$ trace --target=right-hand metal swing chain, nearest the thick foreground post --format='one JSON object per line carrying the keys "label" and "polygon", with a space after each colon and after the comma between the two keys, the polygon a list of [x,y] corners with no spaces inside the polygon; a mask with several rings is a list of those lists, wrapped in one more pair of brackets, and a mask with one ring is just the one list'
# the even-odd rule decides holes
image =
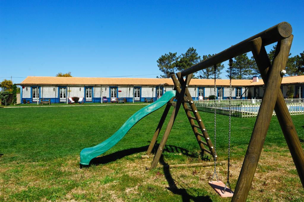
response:
{"label": "right-hand metal swing chain, nearest the thick foreground post", "polygon": [[224,193],[226,191],[227,186],[230,187],[230,192],[232,193],[230,182],[229,182],[229,175],[230,175],[230,136],[231,136],[231,104],[232,104],[232,62],[233,60],[229,60],[229,67],[230,67],[230,95],[229,95],[229,130],[228,130],[228,170],[227,170],[227,182],[224,188]]}

